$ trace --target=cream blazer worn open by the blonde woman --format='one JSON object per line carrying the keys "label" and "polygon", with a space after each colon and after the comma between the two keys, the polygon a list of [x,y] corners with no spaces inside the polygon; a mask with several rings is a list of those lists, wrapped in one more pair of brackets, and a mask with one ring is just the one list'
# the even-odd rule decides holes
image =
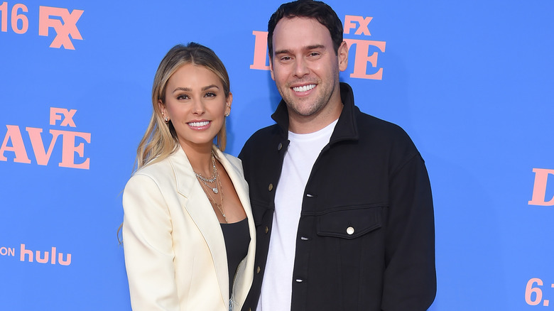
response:
{"label": "cream blazer worn open by the blonde woman", "polygon": [[[222,230],[183,149],[138,170],[123,194],[123,245],[133,310],[240,310],[254,277],[256,231],[242,165],[213,146],[250,231],[229,301]],[[233,307],[229,307],[233,305]]]}

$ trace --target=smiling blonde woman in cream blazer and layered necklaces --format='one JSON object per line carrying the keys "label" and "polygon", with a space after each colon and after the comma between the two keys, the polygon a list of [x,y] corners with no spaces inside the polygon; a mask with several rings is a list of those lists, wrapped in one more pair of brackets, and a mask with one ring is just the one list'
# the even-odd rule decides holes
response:
{"label": "smiling blonde woman in cream blazer and layered necklaces", "polygon": [[240,310],[246,299],[256,243],[240,160],[222,153],[232,99],[209,48],[176,45],[158,67],[123,195],[133,310]]}

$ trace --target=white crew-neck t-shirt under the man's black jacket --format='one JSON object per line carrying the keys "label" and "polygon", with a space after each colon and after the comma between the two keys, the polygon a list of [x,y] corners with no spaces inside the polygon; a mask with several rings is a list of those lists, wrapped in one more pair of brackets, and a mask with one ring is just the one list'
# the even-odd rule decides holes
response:
{"label": "white crew-neck t-shirt under the man's black jacket", "polygon": [[290,310],[296,234],[313,164],[329,143],[337,120],[314,133],[288,132],[290,144],[275,193],[273,229],[257,311]]}

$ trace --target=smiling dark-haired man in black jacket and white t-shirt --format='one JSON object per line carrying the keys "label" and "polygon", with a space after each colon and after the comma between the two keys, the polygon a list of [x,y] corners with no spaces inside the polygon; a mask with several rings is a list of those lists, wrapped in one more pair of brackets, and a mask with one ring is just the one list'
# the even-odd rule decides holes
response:
{"label": "smiling dark-haired man in black jacket and white t-shirt", "polygon": [[363,114],[335,11],[283,4],[268,23],[276,125],[239,158],[257,232],[243,310],[427,310],[435,298],[433,201],[398,126]]}

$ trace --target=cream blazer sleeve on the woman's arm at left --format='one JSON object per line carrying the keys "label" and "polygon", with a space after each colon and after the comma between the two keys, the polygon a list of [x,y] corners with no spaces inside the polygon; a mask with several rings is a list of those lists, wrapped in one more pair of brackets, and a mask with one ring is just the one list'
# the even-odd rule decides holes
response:
{"label": "cream blazer sleeve on the woman's arm at left", "polygon": [[123,194],[123,245],[133,310],[179,310],[171,219],[162,191],[136,174]]}

